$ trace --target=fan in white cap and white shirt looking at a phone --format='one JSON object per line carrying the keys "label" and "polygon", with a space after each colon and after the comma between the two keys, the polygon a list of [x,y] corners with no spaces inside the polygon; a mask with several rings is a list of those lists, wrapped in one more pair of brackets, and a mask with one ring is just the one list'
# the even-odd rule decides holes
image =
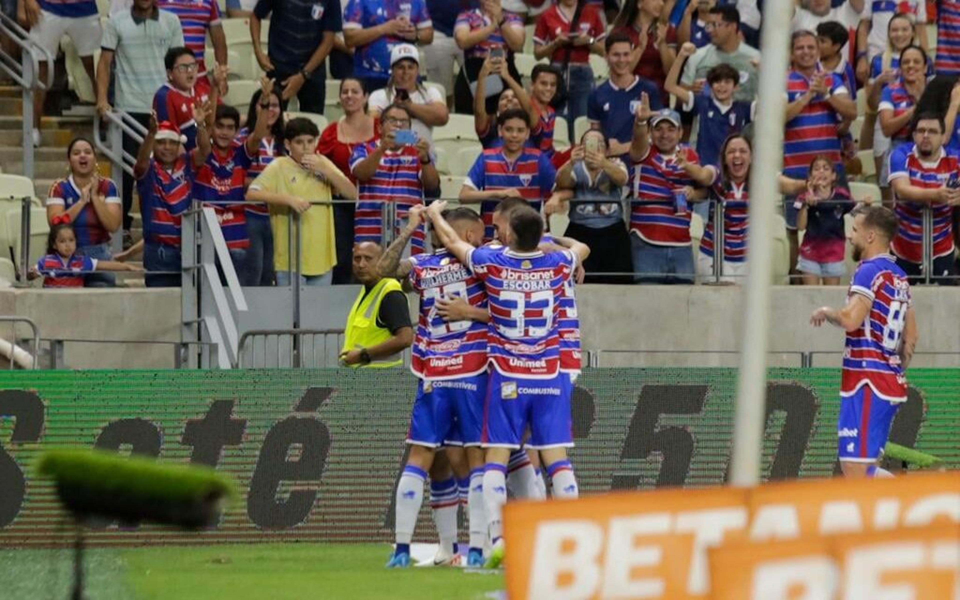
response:
{"label": "fan in white cap and white shirt looking at a phone", "polygon": [[[419,139],[433,143],[433,128],[446,125],[450,110],[436,87],[419,83],[420,52],[413,44],[397,44],[390,51],[390,80],[370,95],[368,107],[374,119],[392,104],[410,112],[412,128]],[[432,146],[431,146],[432,150]]]}

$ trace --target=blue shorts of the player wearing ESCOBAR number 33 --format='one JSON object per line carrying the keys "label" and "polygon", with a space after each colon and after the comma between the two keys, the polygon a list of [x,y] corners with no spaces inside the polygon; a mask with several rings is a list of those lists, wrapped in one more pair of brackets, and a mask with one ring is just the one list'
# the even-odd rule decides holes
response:
{"label": "blue shorts of the player wearing ESCOBAR number 33", "polygon": [[518,448],[530,427],[524,447],[542,450],[573,445],[569,373],[549,379],[526,379],[493,370],[484,405],[485,447]]}

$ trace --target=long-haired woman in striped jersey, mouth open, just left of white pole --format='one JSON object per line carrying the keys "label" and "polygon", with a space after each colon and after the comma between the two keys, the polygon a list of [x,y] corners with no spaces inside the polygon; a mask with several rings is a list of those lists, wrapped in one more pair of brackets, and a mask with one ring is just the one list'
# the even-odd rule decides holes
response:
{"label": "long-haired woman in striped jersey, mouth open, just left of white pole", "polygon": [[[715,276],[713,252],[716,238],[714,223],[716,210],[723,207],[723,264],[720,280],[740,283],[747,273],[747,218],[750,207],[750,168],[753,164],[753,145],[750,139],[734,133],[720,148],[720,171],[710,185],[710,213],[697,256],[697,277],[707,280]],[[780,176],[780,192],[799,194],[804,191],[804,180]]]}

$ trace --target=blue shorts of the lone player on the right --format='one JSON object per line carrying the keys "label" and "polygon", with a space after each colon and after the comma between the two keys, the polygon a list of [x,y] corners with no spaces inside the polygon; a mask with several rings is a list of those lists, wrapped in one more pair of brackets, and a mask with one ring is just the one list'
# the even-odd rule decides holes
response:
{"label": "blue shorts of the lone player on the right", "polygon": [[875,463],[887,444],[890,425],[902,402],[876,396],[869,385],[840,398],[837,457],[848,463]]}

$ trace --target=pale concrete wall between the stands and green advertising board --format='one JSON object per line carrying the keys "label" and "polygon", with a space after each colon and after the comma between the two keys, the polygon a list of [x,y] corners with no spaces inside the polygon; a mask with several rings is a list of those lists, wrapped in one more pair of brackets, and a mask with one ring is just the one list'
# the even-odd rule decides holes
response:
{"label": "pale concrete wall between the stands and green advertising board", "polygon": [[[342,327],[355,294],[355,287],[305,288],[302,326]],[[960,288],[915,288],[913,295],[920,326],[918,352],[953,353],[920,355],[915,365],[960,366]],[[838,366],[843,332],[816,329],[809,325],[809,315],[824,304],[839,306],[845,297],[842,287],[775,287],[770,348],[780,354],[771,356],[771,365],[799,367],[798,352],[816,351],[828,354],[816,355],[815,366]],[[577,289],[577,300],[584,348],[604,350],[601,366],[736,366],[739,287],[585,285]],[[248,301],[251,310],[239,319],[241,332],[291,326],[292,302],[285,290],[255,289]],[[410,306],[415,314],[416,297],[411,296]],[[0,290],[0,314],[34,319],[44,338],[180,339],[180,292],[172,289]],[[0,337],[7,337],[6,331],[0,328]],[[74,369],[163,369],[173,367],[174,350],[67,344],[65,360]]]}

